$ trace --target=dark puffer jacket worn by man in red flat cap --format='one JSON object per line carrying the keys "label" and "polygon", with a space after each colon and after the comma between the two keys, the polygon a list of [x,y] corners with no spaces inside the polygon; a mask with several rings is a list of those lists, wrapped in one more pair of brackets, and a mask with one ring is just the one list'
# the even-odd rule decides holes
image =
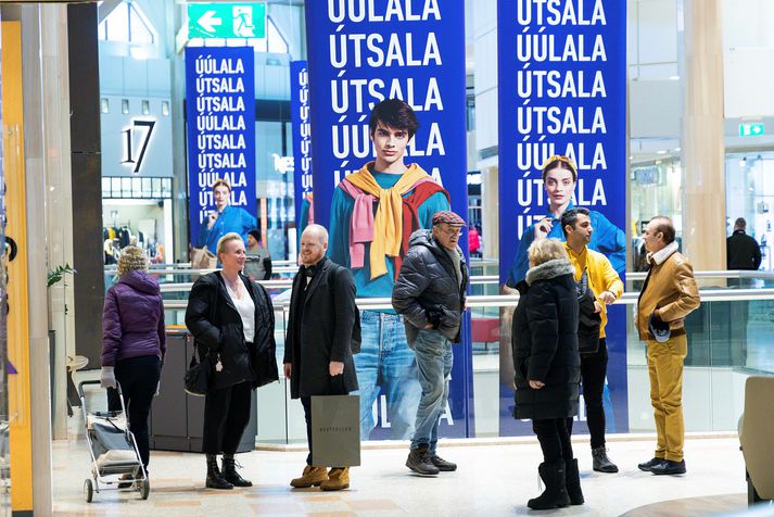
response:
{"label": "dark puffer jacket worn by man in red flat cap", "polygon": [[460,287],[452,257],[435,241],[432,230],[415,231],[408,243],[410,248],[392,290],[392,306],[405,318],[408,345],[414,346],[419,329],[431,323],[432,314],[437,315],[434,328],[458,343],[468,289],[465,256],[457,248],[462,275]]}

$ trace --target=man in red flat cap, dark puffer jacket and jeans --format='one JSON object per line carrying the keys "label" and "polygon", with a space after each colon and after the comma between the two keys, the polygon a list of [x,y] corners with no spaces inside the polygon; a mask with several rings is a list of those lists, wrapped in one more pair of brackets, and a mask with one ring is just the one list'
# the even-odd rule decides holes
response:
{"label": "man in red flat cap, dark puffer jacket and jeans", "polygon": [[459,343],[468,287],[468,267],[457,245],[465,220],[436,212],[430,230],[411,234],[406,258],[392,291],[392,305],[403,315],[408,345],[417,355],[422,395],[406,466],[434,476],[457,465],[437,455],[439,420],[448,400],[448,379]]}

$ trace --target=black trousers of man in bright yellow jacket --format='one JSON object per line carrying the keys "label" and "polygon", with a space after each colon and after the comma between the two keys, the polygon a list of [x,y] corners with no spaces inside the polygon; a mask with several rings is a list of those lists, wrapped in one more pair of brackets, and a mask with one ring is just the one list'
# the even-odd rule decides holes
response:
{"label": "black trousers of man in bright yellow jacket", "polygon": [[[583,400],[586,403],[586,425],[592,438],[592,449],[605,446],[602,391],[607,369],[608,348],[605,338],[601,338],[595,353],[581,355],[581,382],[583,383]],[[567,426],[572,434],[572,418],[568,418]]]}

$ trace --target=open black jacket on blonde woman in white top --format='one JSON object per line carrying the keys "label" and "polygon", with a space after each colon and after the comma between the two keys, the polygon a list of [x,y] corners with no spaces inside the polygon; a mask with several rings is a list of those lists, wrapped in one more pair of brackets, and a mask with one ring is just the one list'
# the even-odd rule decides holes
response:
{"label": "open black jacket on blonde woman in white top", "polygon": [[[244,381],[253,388],[279,379],[271,299],[266,290],[240,275],[255,304],[255,337],[248,346],[242,318],[226,290],[220,272],[200,277],[191,288],[186,310],[186,327],[196,340],[200,357],[208,357],[210,388],[223,389]],[[223,369],[216,371],[220,358]]]}

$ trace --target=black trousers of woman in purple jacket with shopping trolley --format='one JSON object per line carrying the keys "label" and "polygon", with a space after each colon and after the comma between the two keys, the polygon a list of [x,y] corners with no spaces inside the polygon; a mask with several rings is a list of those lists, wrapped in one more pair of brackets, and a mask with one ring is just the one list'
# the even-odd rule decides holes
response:
{"label": "black trousers of woman in purple jacket with shopping trolley", "polygon": [[[135,434],[137,450],[142,465],[148,468],[151,445],[148,432],[148,417],[162,375],[162,362],[155,355],[130,357],[115,364],[115,380],[120,384],[124,405],[129,418],[129,430]],[[107,390],[107,408],[120,411],[118,390]]]}

